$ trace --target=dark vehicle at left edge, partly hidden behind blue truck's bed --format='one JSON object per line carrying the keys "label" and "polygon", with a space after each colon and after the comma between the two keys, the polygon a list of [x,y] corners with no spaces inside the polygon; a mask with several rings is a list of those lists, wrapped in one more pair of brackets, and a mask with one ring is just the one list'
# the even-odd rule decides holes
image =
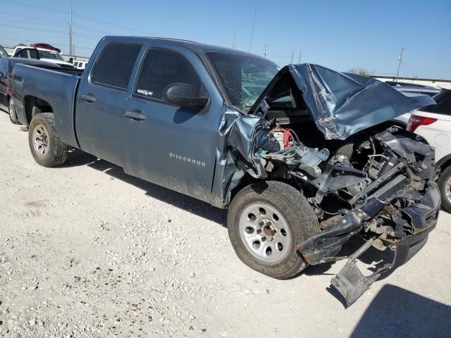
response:
{"label": "dark vehicle at left edge, partly hidden behind blue truck's bed", "polygon": [[14,107],[14,101],[11,99],[11,96],[13,95],[11,90],[11,73],[13,72],[14,65],[18,63],[47,68],[60,68],[59,65],[54,63],[34,60],[31,58],[0,58],[0,107],[8,111],[9,119],[11,120],[11,123],[14,124],[18,124],[18,120],[16,116],[16,108]]}

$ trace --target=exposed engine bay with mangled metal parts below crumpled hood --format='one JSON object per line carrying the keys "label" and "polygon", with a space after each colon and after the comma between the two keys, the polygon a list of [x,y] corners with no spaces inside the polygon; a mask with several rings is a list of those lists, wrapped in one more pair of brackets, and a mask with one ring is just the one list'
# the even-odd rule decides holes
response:
{"label": "exposed engine bay with mangled metal parts below crumpled hood", "polygon": [[[435,177],[434,152],[418,136],[379,125],[331,142],[304,138],[296,126],[290,127],[271,130],[280,150],[261,150],[261,158],[268,177],[290,182],[307,196],[321,229],[336,227],[338,220],[358,211],[359,231],[376,234],[373,246],[378,249],[421,232],[421,224],[410,226],[404,220],[414,217],[409,207],[424,201],[428,180]],[[369,205],[371,211],[364,212]],[[310,263],[319,262],[312,258]]]}

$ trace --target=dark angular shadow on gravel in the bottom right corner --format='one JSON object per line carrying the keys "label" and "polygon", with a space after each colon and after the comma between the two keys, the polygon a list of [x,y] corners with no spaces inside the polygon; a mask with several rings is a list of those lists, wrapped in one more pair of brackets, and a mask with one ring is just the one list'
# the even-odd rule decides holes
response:
{"label": "dark angular shadow on gravel in the bottom right corner", "polygon": [[385,284],[350,337],[451,337],[451,306]]}

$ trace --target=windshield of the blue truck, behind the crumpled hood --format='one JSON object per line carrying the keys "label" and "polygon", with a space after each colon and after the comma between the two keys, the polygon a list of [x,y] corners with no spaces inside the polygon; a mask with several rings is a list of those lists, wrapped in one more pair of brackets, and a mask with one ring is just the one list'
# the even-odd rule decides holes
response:
{"label": "windshield of the blue truck, behind the crumpled hood", "polygon": [[206,53],[233,106],[250,108],[278,72],[276,63],[252,56]]}

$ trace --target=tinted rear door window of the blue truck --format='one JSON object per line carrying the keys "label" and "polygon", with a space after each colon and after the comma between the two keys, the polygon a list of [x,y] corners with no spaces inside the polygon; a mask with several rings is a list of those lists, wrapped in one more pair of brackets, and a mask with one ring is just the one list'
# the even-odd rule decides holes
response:
{"label": "tinted rear door window of the blue truck", "polygon": [[101,51],[92,72],[92,82],[126,90],[140,44],[111,42]]}

